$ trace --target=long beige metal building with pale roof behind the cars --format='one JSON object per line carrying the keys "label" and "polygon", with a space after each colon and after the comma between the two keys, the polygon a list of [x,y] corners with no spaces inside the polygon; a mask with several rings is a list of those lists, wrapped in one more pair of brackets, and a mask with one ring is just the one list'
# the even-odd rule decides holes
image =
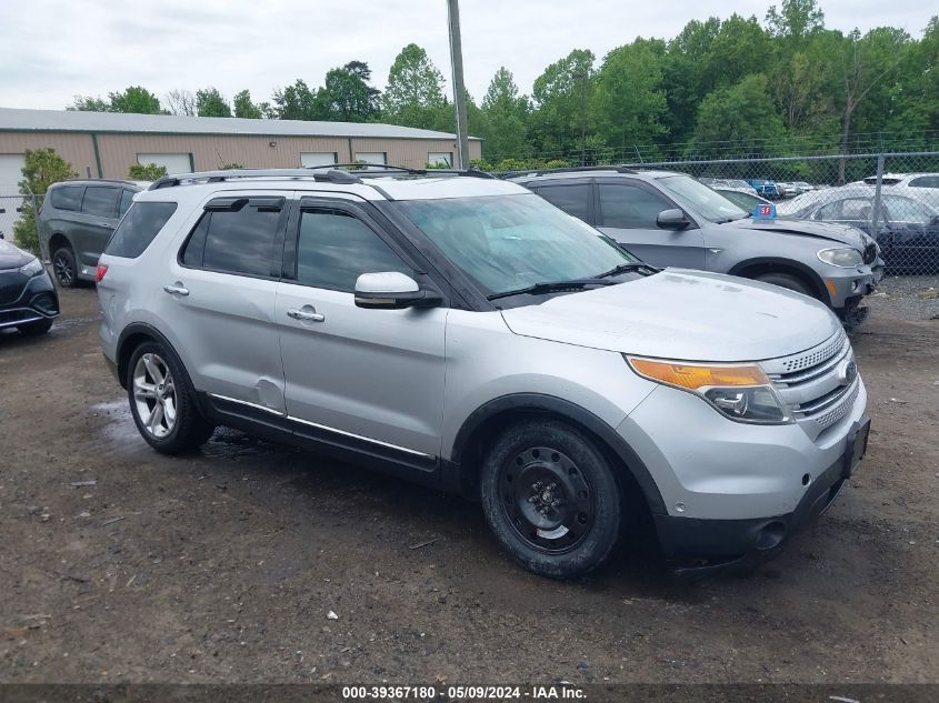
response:
{"label": "long beige metal building with pale roof behind the cars", "polygon": [[[84,178],[127,178],[133,163],[190,173],[239,163],[298,168],[368,161],[453,163],[453,134],[354,122],[246,120],[0,108],[0,187],[21,180],[23,152],[51,147]],[[470,158],[481,141],[470,138]]]}

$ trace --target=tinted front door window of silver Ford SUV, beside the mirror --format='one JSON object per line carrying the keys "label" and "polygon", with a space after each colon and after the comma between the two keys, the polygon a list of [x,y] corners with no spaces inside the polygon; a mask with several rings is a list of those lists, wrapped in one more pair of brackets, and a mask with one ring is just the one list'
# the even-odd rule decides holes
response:
{"label": "tinted front door window of silver Ford SUV, beside the mirror", "polygon": [[338,210],[304,210],[297,245],[297,282],[353,292],[362,273],[399,271],[413,275],[369,227]]}

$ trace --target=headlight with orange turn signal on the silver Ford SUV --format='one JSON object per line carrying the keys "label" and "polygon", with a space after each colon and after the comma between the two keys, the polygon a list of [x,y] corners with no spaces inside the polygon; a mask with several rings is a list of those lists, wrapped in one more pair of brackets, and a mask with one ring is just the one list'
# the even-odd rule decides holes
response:
{"label": "headlight with orange turn signal on the silver Ford SUV", "polygon": [[626,360],[642,378],[695,393],[730,420],[755,424],[793,422],[757,364],[690,364],[637,356]]}

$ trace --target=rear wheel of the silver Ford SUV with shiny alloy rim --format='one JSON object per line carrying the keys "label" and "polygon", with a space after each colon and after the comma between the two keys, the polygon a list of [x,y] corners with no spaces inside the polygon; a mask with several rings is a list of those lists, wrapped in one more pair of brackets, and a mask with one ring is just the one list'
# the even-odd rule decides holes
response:
{"label": "rear wheel of the silver Ford SUV with shiny alloy rim", "polygon": [[212,434],[186,369],[172,350],[158,342],[144,342],[131,354],[127,393],[138,431],[162,454],[196,449]]}

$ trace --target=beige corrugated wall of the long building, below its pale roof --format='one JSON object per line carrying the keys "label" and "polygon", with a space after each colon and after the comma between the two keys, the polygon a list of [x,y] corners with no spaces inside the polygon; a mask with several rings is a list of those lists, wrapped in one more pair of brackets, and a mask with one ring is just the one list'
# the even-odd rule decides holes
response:
{"label": "beige corrugated wall of the long building, below its pale roof", "polygon": [[[388,163],[423,168],[429,152],[452,152],[450,140],[363,139],[334,137],[261,137],[256,134],[116,134],[98,132],[103,178],[127,178],[138,153],[191,153],[197,171],[224,163],[246,168],[300,167],[301,152],[332,152],[340,162],[353,161],[356,152],[384,152]],[[0,153],[52,147],[81,177],[99,175],[92,135],[70,132],[0,132]],[[480,158],[481,142],[470,142],[470,157]]]}

